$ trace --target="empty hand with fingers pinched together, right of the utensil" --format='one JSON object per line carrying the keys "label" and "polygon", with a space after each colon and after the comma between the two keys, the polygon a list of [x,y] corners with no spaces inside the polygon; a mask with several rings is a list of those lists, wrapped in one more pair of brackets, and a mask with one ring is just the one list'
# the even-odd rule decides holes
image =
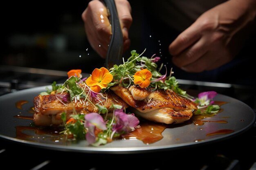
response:
{"label": "empty hand with fingers pinched together, right of the utensil", "polygon": [[206,11],[170,44],[173,63],[184,71],[202,72],[230,62],[255,15],[256,0],[229,0]]}

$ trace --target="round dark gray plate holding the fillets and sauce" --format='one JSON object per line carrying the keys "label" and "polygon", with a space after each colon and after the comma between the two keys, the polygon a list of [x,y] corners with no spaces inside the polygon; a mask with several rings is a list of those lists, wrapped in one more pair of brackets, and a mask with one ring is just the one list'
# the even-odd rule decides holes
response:
{"label": "round dark gray plate holding the fillets and sauce", "polygon": [[[140,140],[117,140],[104,146],[94,147],[89,146],[86,141],[67,141],[55,132],[42,135],[33,129],[20,130],[20,128],[26,129],[24,127],[29,127],[32,120],[20,119],[15,116],[32,116],[32,113],[29,113],[28,110],[31,110],[33,106],[33,99],[40,92],[45,91],[45,88],[46,86],[31,88],[0,97],[0,137],[29,146],[52,150],[114,154],[140,153],[175,150],[228,139],[245,132],[253,126],[255,121],[255,113],[252,108],[237,99],[218,94],[214,100],[227,102],[227,104],[221,106],[223,109],[221,113],[203,119],[206,122],[201,126],[192,122],[166,128],[162,132],[163,139],[148,145]],[[20,109],[16,107],[16,102],[21,100],[26,100],[27,103],[23,104]],[[227,123],[217,123],[216,121],[226,121]],[[224,133],[218,135],[217,131],[223,131]],[[230,133],[227,133],[227,131]],[[22,135],[20,135],[20,132],[22,132]],[[213,135],[209,135],[211,133]]]}

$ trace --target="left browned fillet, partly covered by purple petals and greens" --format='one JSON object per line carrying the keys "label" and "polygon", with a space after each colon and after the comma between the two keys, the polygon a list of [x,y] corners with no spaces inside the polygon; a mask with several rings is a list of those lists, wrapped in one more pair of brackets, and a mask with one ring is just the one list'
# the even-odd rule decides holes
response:
{"label": "left browned fillet, partly covered by purple petals and greens", "polygon": [[[85,93],[88,93],[88,88],[85,89]],[[61,120],[61,113],[65,112],[67,120],[70,119],[70,115],[74,113],[92,113],[98,112],[98,108],[95,104],[99,103],[96,98],[81,99],[79,101],[64,102],[59,95],[65,94],[51,94],[51,95],[38,95],[34,97],[34,123],[36,126],[49,126],[49,125],[60,125],[63,123]],[[103,97],[104,96],[104,97]],[[101,100],[103,106],[106,106],[108,110],[112,104],[124,106],[128,105],[115,93],[109,92],[107,94],[97,95]],[[92,102],[92,103],[91,103]]]}

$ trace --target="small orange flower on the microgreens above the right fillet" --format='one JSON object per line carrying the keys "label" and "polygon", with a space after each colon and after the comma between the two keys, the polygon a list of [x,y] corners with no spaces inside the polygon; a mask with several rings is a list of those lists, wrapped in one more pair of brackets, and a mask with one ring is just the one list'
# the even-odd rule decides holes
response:
{"label": "small orange flower on the microgreens above the right fillet", "polygon": [[152,77],[152,73],[148,69],[143,69],[141,71],[137,71],[134,77],[134,84],[138,84],[141,88],[146,88],[150,84],[150,79]]}

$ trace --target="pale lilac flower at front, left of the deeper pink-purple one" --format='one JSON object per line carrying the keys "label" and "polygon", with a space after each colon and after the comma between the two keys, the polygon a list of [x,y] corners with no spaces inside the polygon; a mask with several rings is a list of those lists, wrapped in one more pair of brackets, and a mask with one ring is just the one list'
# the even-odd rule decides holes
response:
{"label": "pale lilac flower at front, left of the deeper pink-purple one", "polygon": [[89,113],[85,115],[85,128],[88,129],[85,137],[89,144],[93,144],[96,141],[95,130],[106,130],[106,123],[101,115],[98,113]]}

